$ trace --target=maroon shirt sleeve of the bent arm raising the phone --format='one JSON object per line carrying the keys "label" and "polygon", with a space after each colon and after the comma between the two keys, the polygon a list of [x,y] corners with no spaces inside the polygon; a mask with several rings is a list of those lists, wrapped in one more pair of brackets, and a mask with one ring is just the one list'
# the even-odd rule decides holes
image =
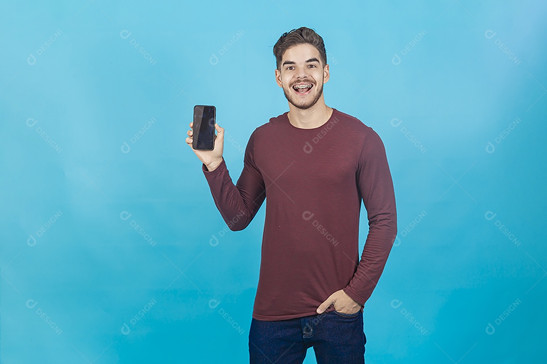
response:
{"label": "maroon shirt sleeve of the bent arm raising the phone", "polygon": [[251,223],[266,198],[264,179],[254,162],[254,137],[249,137],[243,170],[234,185],[224,158],[213,171],[207,170],[202,163],[201,169],[211,188],[214,203],[220,215],[232,231],[243,230]]}

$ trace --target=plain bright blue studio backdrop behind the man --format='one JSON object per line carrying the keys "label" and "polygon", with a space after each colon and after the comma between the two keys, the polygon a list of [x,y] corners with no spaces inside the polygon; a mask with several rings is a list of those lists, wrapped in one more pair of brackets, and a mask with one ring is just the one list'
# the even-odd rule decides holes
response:
{"label": "plain bright blue studio backdrop behind the man", "polygon": [[[184,138],[193,106],[216,105],[236,181],[249,135],[288,110],[272,47],[300,26],[325,41],[325,102],[376,130],[394,181],[366,362],[547,355],[545,2],[0,14],[2,363],[248,362],[265,208],[228,230]],[[367,229],[363,209],[361,249]]]}

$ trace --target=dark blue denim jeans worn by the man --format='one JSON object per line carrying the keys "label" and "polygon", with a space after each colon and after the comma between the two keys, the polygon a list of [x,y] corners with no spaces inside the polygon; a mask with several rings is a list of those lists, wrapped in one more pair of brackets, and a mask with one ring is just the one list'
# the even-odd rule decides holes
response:
{"label": "dark blue denim jeans worn by the man", "polygon": [[251,320],[251,364],[301,364],[313,347],[318,364],[364,364],[363,313],[338,311],[281,320]]}

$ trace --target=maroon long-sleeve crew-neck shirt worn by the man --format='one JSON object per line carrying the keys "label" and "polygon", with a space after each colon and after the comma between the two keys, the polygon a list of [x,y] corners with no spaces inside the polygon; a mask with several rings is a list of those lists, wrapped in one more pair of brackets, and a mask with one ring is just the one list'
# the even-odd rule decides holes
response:
{"label": "maroon long-sleeve crew-neck shirt worn by the man", "polygon": [[[313,315],[340,289],[364,306],[397,234],[386,151],[372,128],[333,108],[327,123],[302,129],[285,112],[251,134],[235,185],[224,159],[202,170],[233,231],[251,223],[267,196],[253,318]],[[361,200],[369,233],[359,260]]]}

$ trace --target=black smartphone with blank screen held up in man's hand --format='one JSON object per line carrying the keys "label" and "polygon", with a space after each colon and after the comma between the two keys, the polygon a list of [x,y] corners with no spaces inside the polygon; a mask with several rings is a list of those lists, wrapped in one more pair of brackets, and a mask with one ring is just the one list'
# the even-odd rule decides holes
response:
{"label": "black smartphone with blank screen held up in man's hand", "polygon": [[194,123],[192,127],[192,147],[195,150],[212,151],[214,149],[214,124],[217,109],[212,105],[194,106]]}

